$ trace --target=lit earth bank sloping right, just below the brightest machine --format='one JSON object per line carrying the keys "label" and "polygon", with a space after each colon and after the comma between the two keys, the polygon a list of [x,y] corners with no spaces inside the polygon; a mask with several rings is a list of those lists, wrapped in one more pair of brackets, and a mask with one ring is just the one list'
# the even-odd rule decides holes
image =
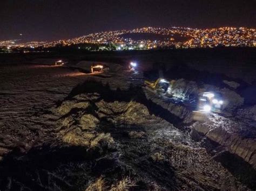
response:
{"label": "lit earth bank sloping right, just below the brightest machine", "polygon": [[[208,116],[205,122],[191,125],[197,132],[219,145],[225,146],[230,153],[237,154],[256,169],[256,131],[245,124],[218,115]],[[252,132],[250,137],[244,137],[243,131]]]}

